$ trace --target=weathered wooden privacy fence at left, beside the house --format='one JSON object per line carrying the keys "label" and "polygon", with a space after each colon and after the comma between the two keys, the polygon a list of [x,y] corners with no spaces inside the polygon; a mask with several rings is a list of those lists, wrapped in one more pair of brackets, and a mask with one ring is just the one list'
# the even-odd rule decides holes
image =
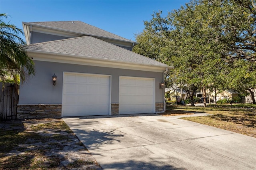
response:
{"label": "weathered wooden privacy fence at left, beside the house", "polygon": [[16,119],[16,105],[18,104],[18,87],[12,83],[0,82],[0,120]]}

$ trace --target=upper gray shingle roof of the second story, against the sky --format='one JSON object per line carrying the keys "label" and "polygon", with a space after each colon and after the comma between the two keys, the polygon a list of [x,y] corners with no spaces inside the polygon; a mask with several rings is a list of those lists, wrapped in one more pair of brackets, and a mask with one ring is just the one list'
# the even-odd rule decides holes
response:
{"label": "upper gray shingle roof of the second story, against the sky", "polygon": [[[47,26],[52,27],[56,29],[62,29],[69,32],[77,32],[82,33],[89,36],[100,36],[100,37],[106,37],[116,40],[122,40],[127,42],[132,42],[131,40],[128,40],[126,38],[122,38],[120,36],[117,36],[115,34],[112,34],[110,32],[104,31],[100,28],[91,26],[89,24],[86,24],[81,21],[57,21],[57,22],[29,22],[30,24],[37,24],[41,26]],[[132,42],[134,43],[134,42]]]}

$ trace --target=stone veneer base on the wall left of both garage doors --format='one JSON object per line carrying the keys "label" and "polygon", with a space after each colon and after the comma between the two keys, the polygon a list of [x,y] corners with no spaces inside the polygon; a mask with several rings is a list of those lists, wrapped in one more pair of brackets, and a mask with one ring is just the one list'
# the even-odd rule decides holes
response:
{"label": "stone veneer base on the wall left of both garage doors", "polygon": [[16,119],[61,118],[61,107],[61,104],[18,104]]}

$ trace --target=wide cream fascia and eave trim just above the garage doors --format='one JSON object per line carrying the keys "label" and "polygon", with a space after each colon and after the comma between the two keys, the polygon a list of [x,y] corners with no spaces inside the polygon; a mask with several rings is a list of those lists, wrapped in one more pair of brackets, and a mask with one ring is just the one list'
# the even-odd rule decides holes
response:
{"label": "wide cream fascia and eave trim just above the garage doors", "polygon": [[[48,51],[38,51],[27,49],[28,55],[33,57],[34,60],[40,61],[52,61],[52,62],[63,62],[63,63],[76,63],[83,65],[101,65],[101,67],[114,67],[114,68],[126,68],[135,70],[145,71],[156,71],[163,72],[168,69],[172,69],[171,66],[159,66],[159,65],[147,65],[135,62],[116,61],[113,59],[99,59],[96,57],[70,55],[62,53],[52,53]],[[72,58],[71,58],[72,57]]]}

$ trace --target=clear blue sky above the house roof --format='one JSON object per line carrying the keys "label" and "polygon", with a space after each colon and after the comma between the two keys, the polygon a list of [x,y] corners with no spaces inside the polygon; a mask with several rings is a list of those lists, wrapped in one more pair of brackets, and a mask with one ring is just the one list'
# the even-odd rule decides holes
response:
{"label": "clear blue sky above the house roof", "polygon": [[135,40],[143,21],[154,11],[164,15],[180,8],[188,0],[0,0],[0,13],[8,13],[10,24],[22,28],[22,22],[80,20],[118,36]]}

